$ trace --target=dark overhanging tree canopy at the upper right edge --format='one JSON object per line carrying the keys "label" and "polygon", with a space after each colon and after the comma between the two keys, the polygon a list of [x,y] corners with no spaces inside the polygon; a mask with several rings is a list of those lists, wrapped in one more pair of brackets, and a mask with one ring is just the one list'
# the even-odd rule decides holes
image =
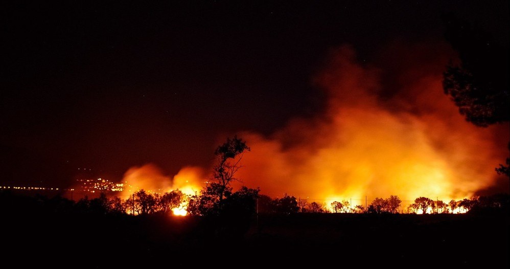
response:
{"label": "dark overhanging tree canopy at the upper right edge", "polygon": [[443,88],[459,113],[477,126],[507,122],[510,115],[508,44],[448,14],[445,37],[460,62],[447,66]]}

